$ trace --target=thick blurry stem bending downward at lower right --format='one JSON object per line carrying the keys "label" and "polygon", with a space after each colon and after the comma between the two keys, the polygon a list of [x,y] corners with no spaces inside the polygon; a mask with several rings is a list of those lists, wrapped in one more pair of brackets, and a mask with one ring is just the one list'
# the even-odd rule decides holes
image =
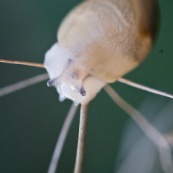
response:
{"label": "thick blurry stem bending downward at lower right", "polygon": [[159,151],[162,169],[165,173],[173,172],[171,149],[165,137],[154,128],[149,121],[135,108],[123,100],[109,85],[105,86],[105,91],[117,105],[122,108],[138,124],[146,136],[156,145]]}

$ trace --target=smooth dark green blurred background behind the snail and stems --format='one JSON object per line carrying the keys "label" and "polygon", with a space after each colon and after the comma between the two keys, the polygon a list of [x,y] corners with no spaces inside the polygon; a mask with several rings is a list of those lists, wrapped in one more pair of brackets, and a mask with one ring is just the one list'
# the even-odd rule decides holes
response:
{"label": "smooth dark green blurred background behind the snail and stems", "polygon": [[[79,0],[1,0],[0,58],[43,62],[56,42],[57,28]],[[160,0],[160,32],[148,59],[126,78],[173,93],[173,1]],[[0,87],[44,73],[0,64]],[[138,108],[149,94],[120,83],[113,87]],[[164,99],[161,96],[155,96]],[[164,99],[167,101],[168,99]],[[46,173],[70,101],[60,103],[54,88],[39,83],[0,98],[0,172]],[[148,107],[150,109],[152,104]],[[84,173],[113,173],[121,134],[129,116],[102,91],[90,104]],[[73,172],[79,112],[62,153],[59,173]]]}

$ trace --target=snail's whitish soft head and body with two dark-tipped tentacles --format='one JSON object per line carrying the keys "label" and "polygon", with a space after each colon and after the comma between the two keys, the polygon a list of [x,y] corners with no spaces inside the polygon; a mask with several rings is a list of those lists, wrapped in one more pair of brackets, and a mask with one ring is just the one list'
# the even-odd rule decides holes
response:
{"label": "snail's whitish soft head and body with two dark-tipped tentacles", "polygon": [[105,82],[89,74],[69,57],[71,55],[58,43],[47,51],[44,64],[50,77],[48,85],[55,86],[60,101],[68,98],[75,104],[88,103]]}

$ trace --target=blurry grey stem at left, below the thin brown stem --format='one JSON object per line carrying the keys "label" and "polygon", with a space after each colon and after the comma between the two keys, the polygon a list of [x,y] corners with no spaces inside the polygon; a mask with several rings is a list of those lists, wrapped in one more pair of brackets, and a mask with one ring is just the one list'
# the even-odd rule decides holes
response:
{"label": "blurry grey stem at left, below the thin brown stem", "polygon": [[31,77],[31,78],[25,79],[23,81],[17,82],[15,84],[12,84],[9,86],[5,86],[3,88],[0,88],[0,97],[5,96],[7,94],[11,94],[15,91],[24,89],[28,86],[37,84],[46,79],[48,79],[48,75],[45,73],[45,74],[41,74],[41,75],[37,75],[37,76]]}

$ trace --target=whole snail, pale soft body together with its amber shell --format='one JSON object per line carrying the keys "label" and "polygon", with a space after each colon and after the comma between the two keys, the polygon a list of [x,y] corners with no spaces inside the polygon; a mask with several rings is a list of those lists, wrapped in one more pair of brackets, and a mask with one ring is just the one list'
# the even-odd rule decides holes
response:
{"label": "whole snail, pale soft body together with its amber shell", "polygon": [[155,0],[88,0],[58,30],[44,65],[60,100],[86,104],[106,83],[146,58],[155,35]]}

